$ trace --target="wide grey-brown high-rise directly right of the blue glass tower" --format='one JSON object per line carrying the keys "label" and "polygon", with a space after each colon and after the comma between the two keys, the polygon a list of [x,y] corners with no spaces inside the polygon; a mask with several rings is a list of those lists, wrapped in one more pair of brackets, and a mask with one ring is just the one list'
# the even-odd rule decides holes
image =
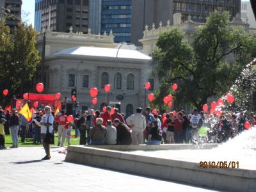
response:
{"label": "wide grey-brown high-rise directly right of the blue glass tower", "polygon": [[206,22],[214,10],[228,10],[230,19],[240,13],[241,0],[132,0],[131,42],[138,45],[145,25],[152,26],[168,19],[173,24],[173,13],[181,13],[182,21]]}

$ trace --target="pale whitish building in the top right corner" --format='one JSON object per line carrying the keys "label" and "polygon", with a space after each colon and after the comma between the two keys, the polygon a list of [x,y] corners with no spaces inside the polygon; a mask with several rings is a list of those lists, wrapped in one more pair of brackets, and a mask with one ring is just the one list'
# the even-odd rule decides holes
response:
{"label": "pale whitish building in the top right corner", "polygon": [[241,2],[241,18],[250,24],[251,28],[256,28],[256,20],[253,14],[250,1]]}

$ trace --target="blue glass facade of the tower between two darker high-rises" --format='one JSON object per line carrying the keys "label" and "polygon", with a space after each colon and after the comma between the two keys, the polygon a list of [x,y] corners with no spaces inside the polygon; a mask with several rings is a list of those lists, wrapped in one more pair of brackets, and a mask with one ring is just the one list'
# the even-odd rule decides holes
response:
{"label": "blue glass facade of the tower between two darker high-rises", "polygon": [[131,0],[102,0],[100,33],[112,29],[115,42],[131,42]]}

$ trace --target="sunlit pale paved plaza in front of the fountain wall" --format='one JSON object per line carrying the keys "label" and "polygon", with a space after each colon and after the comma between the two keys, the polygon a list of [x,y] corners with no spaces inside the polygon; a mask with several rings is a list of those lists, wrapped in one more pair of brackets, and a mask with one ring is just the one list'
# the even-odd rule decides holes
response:
{"label": "sunlit pale paved plaza in front of the fountain wall", "polygon": [[67,163],[62,148],[51,148],[52,159],[42,147],[0,150],[0,191],[212,191],[177,182]]}

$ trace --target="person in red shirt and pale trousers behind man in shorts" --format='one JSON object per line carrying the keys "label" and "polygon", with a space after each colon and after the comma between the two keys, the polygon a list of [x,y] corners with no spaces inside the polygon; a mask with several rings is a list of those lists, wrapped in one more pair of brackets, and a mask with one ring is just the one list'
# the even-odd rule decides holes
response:
{"label": "person in red shirt and pale trousers behind man in shorts", "polygon": [[61,115],[56,116],[54,120],[59,123],[58,146],[64,147],[63,143],[67,137],[68,132],[68,129],[65,128],[65,125],[67,125],[67,115],[65,115],[65,111],[61,111]]}

